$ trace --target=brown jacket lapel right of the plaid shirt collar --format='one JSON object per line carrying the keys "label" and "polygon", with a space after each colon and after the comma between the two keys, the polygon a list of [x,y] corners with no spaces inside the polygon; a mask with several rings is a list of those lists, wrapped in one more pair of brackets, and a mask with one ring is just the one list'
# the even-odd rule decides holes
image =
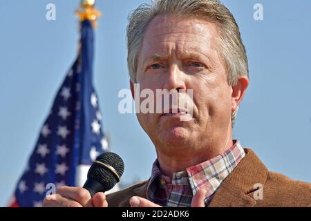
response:
{"label": "brown jacket lapel right of the plaid shirt collar", "polygon": [[268,170],[250,149],[214,194],[209,207],[253,207],[255,184],[265,184]]}

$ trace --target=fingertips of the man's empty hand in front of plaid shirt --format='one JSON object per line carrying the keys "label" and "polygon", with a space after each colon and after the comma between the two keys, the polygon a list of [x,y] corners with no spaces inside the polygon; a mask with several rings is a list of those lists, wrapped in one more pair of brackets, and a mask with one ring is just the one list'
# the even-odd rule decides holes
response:
{"label": "fingertips of the man's empty hand in front of plaid shirt", "polygon": [[[205,207],[204,199],[206,195],[205,189],[199,189],[191,201],[191,207]],[[162,207],[147,199],[133,196],[129,202],[132,207]]]}

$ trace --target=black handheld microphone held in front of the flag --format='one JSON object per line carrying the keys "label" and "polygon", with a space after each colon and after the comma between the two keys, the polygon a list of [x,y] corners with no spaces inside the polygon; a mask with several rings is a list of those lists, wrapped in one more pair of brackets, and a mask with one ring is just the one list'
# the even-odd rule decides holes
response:
{"label": "black handheld microphone held in front of the flag", "polygon": [[106,192],[120,181],[124,171],[121,157],[112,152],[99,155],[88,170],[88,179],[83,188],[87,189],[91,197],[97,192]]}

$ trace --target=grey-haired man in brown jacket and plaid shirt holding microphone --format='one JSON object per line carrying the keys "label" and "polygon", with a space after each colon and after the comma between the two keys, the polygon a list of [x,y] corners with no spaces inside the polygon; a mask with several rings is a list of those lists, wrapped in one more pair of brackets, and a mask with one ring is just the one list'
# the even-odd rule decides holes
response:
{"label": "grey-haired man in brown jacket and plaid shirt holding microphone", "polygon": [[[232,140],[249,84],[234,17],[217,0],[160,0],[127,28],[130,86],[192,89],[192,114],[138,113],[156,147],[149,180],[110,195],[63,186],[45,206],[311,206],[311,184],[270,172]],[[135,102],[142,102],[135,101]],[[181,120],[188,117],[189,120]]]}

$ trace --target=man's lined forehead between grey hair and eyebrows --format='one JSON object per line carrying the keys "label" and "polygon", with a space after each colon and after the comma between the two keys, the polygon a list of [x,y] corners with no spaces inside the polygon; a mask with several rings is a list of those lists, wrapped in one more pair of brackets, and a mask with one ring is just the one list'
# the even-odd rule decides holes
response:
{"label": "man's lined forehead between grey hair and eyebrows", "polygon": [[142,44],[141,56],[178,52],[207,54],[217,47],[215,23],[191,17],[157,16],[149,24]]}

